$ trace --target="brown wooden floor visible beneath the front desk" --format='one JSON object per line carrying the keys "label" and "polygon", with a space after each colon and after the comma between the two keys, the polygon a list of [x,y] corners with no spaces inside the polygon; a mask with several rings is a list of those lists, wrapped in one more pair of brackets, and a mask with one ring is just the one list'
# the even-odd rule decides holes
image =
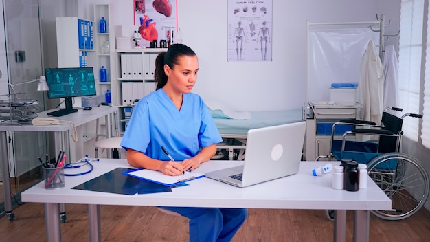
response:
{"label": "brown wooden floor visible beneath the front desk", "polygon": [[[88,206],[67,204],[62,239],[89,241]],[[234,236],[243,241],[333,241],[333,222],[324,210],[249,209],[247,220]],[[46,241],[42,203],[14,209],[15,219],[0,218],[1,241]],[[348,211],[347,241],[352,241],[352,212]],[[164,214],[154,207],[100,206],[102,241],[188,241],[188,219]],[[430,212],[422,208],[401,221],[370,215],[370,241],[429,241]]]}

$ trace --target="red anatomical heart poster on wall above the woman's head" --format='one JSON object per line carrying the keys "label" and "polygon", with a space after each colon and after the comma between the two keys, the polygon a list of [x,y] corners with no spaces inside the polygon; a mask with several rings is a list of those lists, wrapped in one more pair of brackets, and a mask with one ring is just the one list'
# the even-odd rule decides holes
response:
{"label": "red anatomical heart poster on wall above the woman's head", "polygon": [[[176,0],[133,0],[135,2],[135,26],[137,41],[141,47],[151,47],[153,41],[160,47],[160,40],[177,43],[177,1]],[[136,36],[135,36],[136,38]]]}

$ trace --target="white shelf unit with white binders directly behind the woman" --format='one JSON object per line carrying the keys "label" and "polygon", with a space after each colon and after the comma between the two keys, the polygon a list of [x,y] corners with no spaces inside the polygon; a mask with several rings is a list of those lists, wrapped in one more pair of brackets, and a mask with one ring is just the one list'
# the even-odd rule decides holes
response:
{"label": "white shelf unit with white binders directly behind the woman", "polygon": [[[167,49],[128,49],[116,50],[117,68],[117,86],[121,91],[118,95],[115,94],[112,98],[113,102],[120,106],[127,106],[135,103],[135,100],[148,95],[151,91],[155,91],[156,85],[154,82],[155,58],[161,52]],[[120,133],[124,132],[128,118],[132,111],[128,109],[120,109],[120,117],[122,124]]]}

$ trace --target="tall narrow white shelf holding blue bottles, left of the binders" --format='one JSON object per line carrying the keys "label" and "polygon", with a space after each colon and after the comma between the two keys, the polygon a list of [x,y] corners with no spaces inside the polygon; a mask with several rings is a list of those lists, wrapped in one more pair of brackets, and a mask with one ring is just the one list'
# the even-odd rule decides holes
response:
{"label": "tall narrow white shelf holding blue bottles, left of the binders", "polygon": [[[100,33],[100,19],[104,17],[106,20],[106,33]],[[111,14],[110,3],[94,4],[94,23],[95,23],[95,52],[97,65],[94,66],[95,81],[98,83],[97,93],[100,95],[100,100],[104,102],[104,94],[106,90],[111,90],[111,95],[115,96],[118,93],[115,72],[115,26],[113,16]],[[104,66],[107,70],[107,81],[100,82],[100,69]],[[116,103],[115,103],[116,104]]]}

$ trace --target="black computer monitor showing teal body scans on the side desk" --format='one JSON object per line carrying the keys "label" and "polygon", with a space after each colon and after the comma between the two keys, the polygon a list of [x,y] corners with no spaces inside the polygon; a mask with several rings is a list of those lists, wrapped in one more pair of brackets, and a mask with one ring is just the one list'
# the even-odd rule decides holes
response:
{"label": "black computer monitor showing teal body scans on the side desk", "polygon": [[48,98],[65,98],[66,109],[73,112],[72,98],[95,95],[93,67],[46,68]]}

